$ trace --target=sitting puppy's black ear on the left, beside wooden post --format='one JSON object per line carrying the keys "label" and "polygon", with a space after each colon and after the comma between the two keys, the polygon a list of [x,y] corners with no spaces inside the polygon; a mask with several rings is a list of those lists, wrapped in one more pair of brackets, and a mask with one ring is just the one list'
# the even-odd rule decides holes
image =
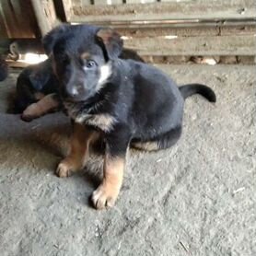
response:
{"label": "sitting puppy's black ear on the left, beside wooden post", "polygon": [[66,32],[69,27],[70,25],[68,24],[62,24],[52,29],[42,38],[42,46],[47,55],[51,54],[56,41],[58,41],[64,35],[64,32]]}

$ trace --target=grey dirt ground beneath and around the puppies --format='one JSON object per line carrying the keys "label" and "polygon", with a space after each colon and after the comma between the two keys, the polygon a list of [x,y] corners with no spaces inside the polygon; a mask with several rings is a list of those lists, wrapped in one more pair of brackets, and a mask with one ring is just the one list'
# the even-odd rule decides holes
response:
{"label": "grey dirt ground beneath and around the puppies", "polygon": [[255,66],[161,68],[179,84],[213,87],[217,102],[187,99],[169,150],[131,150],[120,197],[104,211],[88,201],[102,157],[57,178],[68,120],[6,114],[17,71],[0,83],[1,256],[256,255]]}

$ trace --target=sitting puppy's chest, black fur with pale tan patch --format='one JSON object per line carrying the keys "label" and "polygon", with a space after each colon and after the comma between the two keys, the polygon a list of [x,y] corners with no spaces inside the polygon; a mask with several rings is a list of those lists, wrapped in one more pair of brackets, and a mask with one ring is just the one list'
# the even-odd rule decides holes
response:
{"label": "sitting puppy's chest, black fur with pale tan patch", "polygon": [[113,129],[116,119],[109,113],[95,113],[95,108],[83,109],[76,103],[64,103],[65,110],[75,122],[90,125],[108,133]]}

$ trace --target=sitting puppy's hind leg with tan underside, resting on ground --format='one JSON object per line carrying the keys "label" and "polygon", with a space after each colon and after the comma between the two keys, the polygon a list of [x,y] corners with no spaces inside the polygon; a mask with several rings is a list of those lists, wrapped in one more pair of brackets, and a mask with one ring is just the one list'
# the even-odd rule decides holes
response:
{"label": "sitting puppy's hind leg with tan underside, resting on ground", "polygon": [[132,147],[135,149],[145,150],[145,151],[157,151],[159,149],[166,149],[180,139],[181,127],[171,129],[168,133],[162,134],[151,141],[136,141],[131,143]]}

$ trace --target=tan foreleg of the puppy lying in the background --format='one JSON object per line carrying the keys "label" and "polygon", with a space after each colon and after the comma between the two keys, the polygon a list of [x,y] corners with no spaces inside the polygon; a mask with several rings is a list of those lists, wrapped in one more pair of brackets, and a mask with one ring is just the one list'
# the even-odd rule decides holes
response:
{"label": "tan foreleg of the puppy lying in the background", "polygon": [[54,99],[53,95],[54,94],[49,94],[38,102],[29,105],[29,107],[22,113],[23,118],[32,120],[58,108],[59,102]]}

